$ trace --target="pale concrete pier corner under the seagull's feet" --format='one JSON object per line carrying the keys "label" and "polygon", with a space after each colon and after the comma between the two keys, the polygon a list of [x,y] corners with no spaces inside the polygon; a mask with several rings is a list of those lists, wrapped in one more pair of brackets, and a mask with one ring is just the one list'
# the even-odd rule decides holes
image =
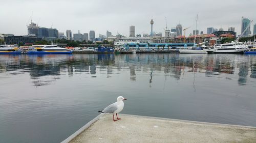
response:
{"label": "pale concrete pier corner under the seagull's feet", "polygon": [[66,142],[256,142],[256,127],[101,114]]}

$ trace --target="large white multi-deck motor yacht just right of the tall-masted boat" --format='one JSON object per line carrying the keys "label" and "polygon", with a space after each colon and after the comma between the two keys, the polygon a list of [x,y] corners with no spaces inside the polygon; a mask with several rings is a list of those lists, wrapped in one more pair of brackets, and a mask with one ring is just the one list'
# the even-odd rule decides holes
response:
{"label": "large white multi-deck motor yacht just right of the tall-masted boat", "polygon": [[220,44],[214,48],[215,53],[243,53],[247,51],[248,47],[246,47],[243,43],[227,43]]}

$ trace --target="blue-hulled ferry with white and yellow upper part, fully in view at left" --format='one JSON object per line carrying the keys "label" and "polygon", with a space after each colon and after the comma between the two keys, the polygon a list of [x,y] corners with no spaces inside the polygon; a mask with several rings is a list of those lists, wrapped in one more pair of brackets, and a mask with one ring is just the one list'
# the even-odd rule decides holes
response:
{"label": "blue-hulled ferry with white and yellow upper part, fully in view at left", "polygon": [[56,45],[34,45],[27,54],[71,54],[73,51]]}

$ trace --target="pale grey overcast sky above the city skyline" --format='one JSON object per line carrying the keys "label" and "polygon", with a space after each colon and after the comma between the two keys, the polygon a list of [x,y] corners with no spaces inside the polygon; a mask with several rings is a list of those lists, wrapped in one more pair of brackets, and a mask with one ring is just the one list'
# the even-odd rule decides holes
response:
{"label": "pale grey overcast sky above the city skyline", "polygon": [[[241,17],[256,21],[255,0],[215,0],[215,1],[173,1],[173,0],[0,0],[0,33],[27,35],[27,27],[32,21],[41,27],[57,28],[59,32],[72,30],[72,34],[89,33],[94,30],[106,35],[106,30],[113,35],[118,33],[129,36],[129,26],[135,25],[135,33],[150,33],[150,20],[154,19],[153,31],[162,32],[165,27],[189,27],[187,34],[195,29],[198,14],[198,30],[206,33],[207,27],[235,27],[241,33]],[[33,13],[33,16],[32,16]],[[251,24],[251,32],[253,25]]]}

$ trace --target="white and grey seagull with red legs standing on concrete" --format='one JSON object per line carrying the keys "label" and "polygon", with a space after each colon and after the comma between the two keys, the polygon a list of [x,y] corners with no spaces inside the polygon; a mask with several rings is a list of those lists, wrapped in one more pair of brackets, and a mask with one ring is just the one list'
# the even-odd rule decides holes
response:
{"label": "white and grey seagull with red legs standing on concrete", "polygon": [[[118,96],[115,103],[110,104],[108,107],[105,107],[103,110],[99,110],[98,112],[113,113],[113,121],[116,122],[117,120],[121,120],[121,118],[117,117],[117,113],[123,110],[123,106],[124,106],[123,100],[127,100],[127,99],[122,96]],[[115,114],[116,114],[117,120],[115,120]]]}

